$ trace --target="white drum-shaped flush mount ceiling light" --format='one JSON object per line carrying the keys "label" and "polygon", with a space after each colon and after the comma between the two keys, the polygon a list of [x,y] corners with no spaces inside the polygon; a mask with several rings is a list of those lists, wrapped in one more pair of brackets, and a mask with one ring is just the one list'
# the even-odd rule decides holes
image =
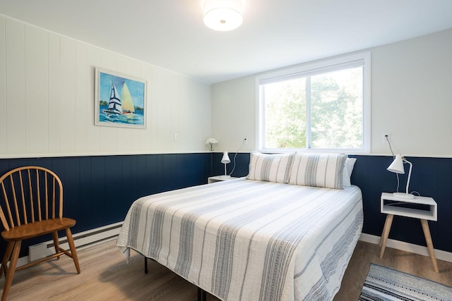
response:
{"label": "white drum-shaped flush mount ceiling light", "polygon": [[204,0],[204,24],[213,30],[234,30],[242,25],[242,0]]}

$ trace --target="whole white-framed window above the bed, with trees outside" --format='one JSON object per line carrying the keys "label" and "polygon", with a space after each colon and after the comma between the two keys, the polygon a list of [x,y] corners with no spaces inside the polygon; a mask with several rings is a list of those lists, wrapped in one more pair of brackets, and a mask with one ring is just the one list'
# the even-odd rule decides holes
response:
{"label": "whole white-framed window above the bed, with trees outside", "polygon": [[370,52],[257,78],[258,144],[370,152]]}

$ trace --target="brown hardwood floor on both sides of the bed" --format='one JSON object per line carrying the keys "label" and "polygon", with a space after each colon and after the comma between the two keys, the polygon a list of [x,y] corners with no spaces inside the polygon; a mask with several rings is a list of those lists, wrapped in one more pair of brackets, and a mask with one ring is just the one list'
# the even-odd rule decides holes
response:
{"label": "brown hardwood floor on both sides of the bed", "polygon": [[[16,272],[8,300],[197,300],[195,285],[152,261],[148,261],[149,274],[144,274],[143,257],[132,252],[126,264],[114,244],[109,241],[79,250],[79,275],[69,257]],[[439,260],[436,274],[429,257],[387,247],[380,259],[378,245],[358,242],[334,301],[357,300],[370,262],[452,286],[451,262]],[[214,300],[218,299],[208,295],[208,301]]]}

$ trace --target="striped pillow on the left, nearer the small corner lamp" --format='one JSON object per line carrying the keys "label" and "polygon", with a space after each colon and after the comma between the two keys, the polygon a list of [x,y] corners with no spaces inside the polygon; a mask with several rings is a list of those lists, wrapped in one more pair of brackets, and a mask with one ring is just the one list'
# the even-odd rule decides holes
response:
{"label": "striped pillow on the left, nearer the small corner lamp", "polygon": [[249,160],[249,180],[289,183],[294,154],[261,154],[252,152]]}

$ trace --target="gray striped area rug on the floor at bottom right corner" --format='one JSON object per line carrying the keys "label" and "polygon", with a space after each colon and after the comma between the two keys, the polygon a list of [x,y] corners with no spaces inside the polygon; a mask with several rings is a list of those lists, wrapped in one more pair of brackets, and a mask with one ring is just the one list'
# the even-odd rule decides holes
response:
{"label": "gray striped area rug on the floor at bottom right corner", "polygon": [[452,288],[424,278],[371,264],[359,300],[452,300]]}

